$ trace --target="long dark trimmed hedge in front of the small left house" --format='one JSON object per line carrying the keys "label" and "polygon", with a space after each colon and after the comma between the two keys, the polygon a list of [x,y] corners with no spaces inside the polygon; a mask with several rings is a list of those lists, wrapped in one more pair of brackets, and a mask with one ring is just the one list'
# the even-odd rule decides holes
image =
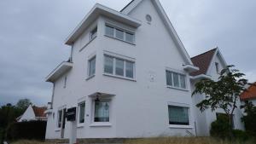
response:
{"label": "long dark trimmed hedge in front of the small left house", "polygon": [[9,124],[6,130],[6,139],[9,141],[20,139],[44,140],[45,130],[45,121],[29,121]]}

